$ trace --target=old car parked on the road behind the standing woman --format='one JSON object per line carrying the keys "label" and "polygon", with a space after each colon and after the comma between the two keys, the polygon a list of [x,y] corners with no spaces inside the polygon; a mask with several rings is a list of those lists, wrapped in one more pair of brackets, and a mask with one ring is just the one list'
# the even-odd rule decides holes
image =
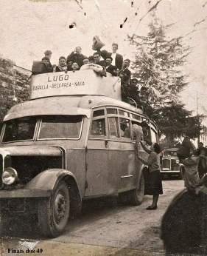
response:
{"label": "old car parked on the road behind the standing woman", "polygon": [[177,156],[178,148],[165,149],[161,159],[161,173],[167,176],[177,175],[183,178],[184,167]]}

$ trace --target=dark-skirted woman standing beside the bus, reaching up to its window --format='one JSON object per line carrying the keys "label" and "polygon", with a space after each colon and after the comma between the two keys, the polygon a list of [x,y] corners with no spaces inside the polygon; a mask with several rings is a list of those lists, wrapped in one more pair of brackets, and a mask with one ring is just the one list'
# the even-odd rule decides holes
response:
{"label": "dark-skirted woman standing beside the bus, reaching up to its window", "polygon": [[[144,151],[149,154],[147,161],[145,161],[144,159],[138,156],[138,153],[136,153],[136,156],[141,161],[141,163],[146,164],[149,169],[148,177],[147,177],[148,186],[145,187],[144,194],[153,195],[153,201],[152,201],[152,205],[147,207],[147,210],[155,210],[158,208],[159,195],[163,194],[161,172],[160,172],[160,155],[159,155],[161,152],[161,147],[157,143],[155,143],[150,147],[150,149],[148,149],[147,146],[144,146],[142,141],[140,141],[140,143]],[[136,143],[136,149],[138,149],[137,143]]]}

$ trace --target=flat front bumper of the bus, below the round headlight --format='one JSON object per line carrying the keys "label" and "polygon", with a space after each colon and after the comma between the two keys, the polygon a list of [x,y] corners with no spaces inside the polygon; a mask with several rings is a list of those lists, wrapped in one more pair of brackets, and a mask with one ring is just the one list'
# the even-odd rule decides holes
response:
{"label": "flat front bumper of the bus, below the round headlight", "polygon": [[14,190],[1,190],[0,200],[7,198],[49,198],[52,190],[41,189],[14,189]]}

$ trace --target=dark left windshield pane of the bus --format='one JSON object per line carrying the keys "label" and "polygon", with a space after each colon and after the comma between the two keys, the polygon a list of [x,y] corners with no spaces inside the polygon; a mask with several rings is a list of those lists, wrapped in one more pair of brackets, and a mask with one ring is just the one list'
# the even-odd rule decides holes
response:
{"label": "dark left windshield pane of the bus", "polygon": [[36,123],[37,117],[34,116],[6,121],[2,142],[32,140]]}

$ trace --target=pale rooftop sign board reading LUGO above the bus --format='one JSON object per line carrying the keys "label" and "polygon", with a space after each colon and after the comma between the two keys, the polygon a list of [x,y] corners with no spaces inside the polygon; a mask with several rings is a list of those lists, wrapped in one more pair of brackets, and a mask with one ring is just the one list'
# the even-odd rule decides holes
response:
{"label": "pale rooftop sign board reading LUGO above the bus", "polygon": [[57,95],[104,95],[121,100],[120,78],[94,70],[32,75],[30,99]]}

